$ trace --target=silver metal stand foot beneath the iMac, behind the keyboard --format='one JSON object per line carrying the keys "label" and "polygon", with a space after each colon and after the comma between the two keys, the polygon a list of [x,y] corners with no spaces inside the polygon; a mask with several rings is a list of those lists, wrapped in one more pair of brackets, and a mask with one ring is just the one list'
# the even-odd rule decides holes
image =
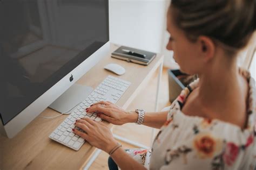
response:
{"label": "silver metal stand foot beneath the iMac, behind the keyboard", "polygon": [[81,84],[73,84],[61,96],[59,96],[49,108],[62,114],[70,114],[80,102],[83,102],[93,91],[92,87]]}

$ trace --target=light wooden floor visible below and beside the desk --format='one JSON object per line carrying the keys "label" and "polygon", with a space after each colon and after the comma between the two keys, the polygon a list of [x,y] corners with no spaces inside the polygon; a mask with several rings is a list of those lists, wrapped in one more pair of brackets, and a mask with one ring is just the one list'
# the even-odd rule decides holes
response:
{"label": "light wooden floor visible below and beside the desk", "polygon": [[[145,109],[146,111],[154,111],[154,103],[156,101],[156,89],[157,89],[158,70],[150,79],[147,87],[145,87],[140,94],[129,105],[127,110]],[[159,91],[159,110],[169,106],[169,88],[168,88],[168,73],[167,68],[163,69],[163,75],[161,77],[160,91]],[[151,145],[151,128],[143,125],[137,125],[134,123],[125,124],[122,126],[114,126],[113,133],[119,136],[137,141],[146,146]],[[134,146],[120,142],[123,148],[134,148]],[[107,159],[109,155],[105,152],[101,152],[98,158],[93,162],[90,170],[95,169],[109,169],[107,166]]]}

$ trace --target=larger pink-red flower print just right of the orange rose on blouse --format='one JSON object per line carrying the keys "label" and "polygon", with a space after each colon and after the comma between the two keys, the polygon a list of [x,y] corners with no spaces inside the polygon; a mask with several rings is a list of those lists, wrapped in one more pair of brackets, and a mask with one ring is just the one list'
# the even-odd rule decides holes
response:
{"label": "larger pink-red flower print just right of the orange rose on blouse", "polygon": [[235,145],[232,142],[227,143],[226,149],[223,153],[223,160],[225,164],[231,166],[232,163],[237,158],[238,153],[239,153],[239,147],[237,145]]}

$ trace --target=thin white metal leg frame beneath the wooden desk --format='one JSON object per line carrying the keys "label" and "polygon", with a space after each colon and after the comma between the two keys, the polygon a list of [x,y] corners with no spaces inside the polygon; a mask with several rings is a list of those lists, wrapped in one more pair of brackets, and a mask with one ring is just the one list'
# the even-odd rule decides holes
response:
{"label": "thin white metal leg frame beneath the wooden desk", "polygon": [[[161,62],[161,65],[159,66],[159,73],[158,73],[158,82],[157,82],[157,95],[156,95],[156,103],[155,103],[155,108],[154,111],[158,111],[158,97],[159,97],[159,88],[160,88],[160,82],[161,82],[161,76],[163,72],[163,61]],[[112,127],[113,129],[113,127]],[[111,129],[111,131],[112,131]],[[152,128],[152,134],[151,134],[151,144],[153,143],[154,137],[156,135],[156,129]],[[117,140],[124,141],[127,144],[131,144],[133,146],[137,146],[139,148],[146,148],[149,149],[148,146],[145,146],[143,144],[139,144],[135,141],[132,141],[130,139],[118,136],[117,134],[113,134],[113,137]],[[100,154],[102,150],[97,149],[95,153],[93,153],[92,157],[90,158],[89,162],[86,164],[84,167],[84,170],[89,169],[89,167],[92,165],[92,163],[97,159],[98,155]]]}

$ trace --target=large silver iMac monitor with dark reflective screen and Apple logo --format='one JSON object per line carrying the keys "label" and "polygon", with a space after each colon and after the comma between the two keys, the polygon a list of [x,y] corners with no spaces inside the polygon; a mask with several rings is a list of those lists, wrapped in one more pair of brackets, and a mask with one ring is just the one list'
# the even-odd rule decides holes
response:
{"label": "large silver iMac monitor with dark reflective screen and Apple logo", "polygon": [[109,53],[109,1],[0,0],[0,25],[0,126],[12,138]]}

